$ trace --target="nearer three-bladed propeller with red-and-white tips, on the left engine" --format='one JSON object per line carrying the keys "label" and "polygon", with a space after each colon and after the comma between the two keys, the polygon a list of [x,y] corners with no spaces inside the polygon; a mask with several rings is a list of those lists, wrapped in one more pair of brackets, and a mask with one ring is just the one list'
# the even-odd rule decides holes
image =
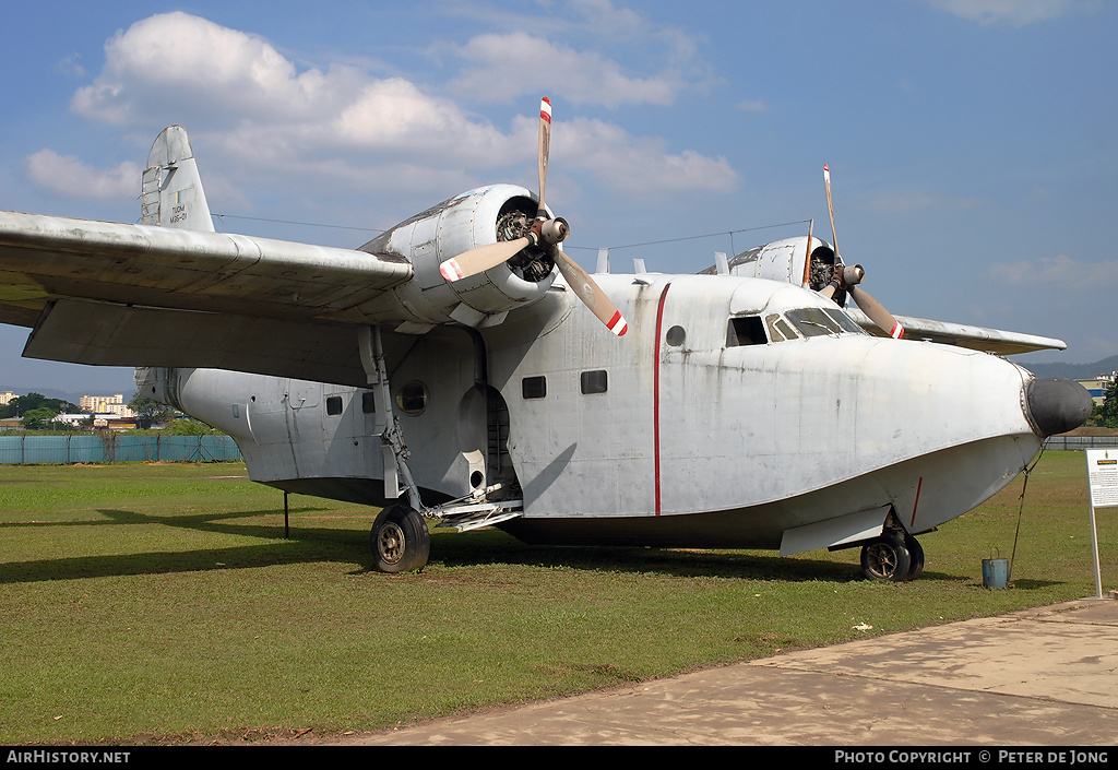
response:
{"label": "nearer three-bladed propeller with red-and-white tips, on the left engine", "polygon": [[491,267],[495,267],[502,262],[508,262],[529,246],[542,246],[548,250],[552,261],[559,266],[567,283],[575,291],[578,298],[590,309],[606,328],[620,337],[628,331],[628,323],[620,311],[601,291],[601,288],[590,275],[578,264],[570,260],[558,247],[560,243],[570,235],[570,225],[562,217],[549,218],[543,206],[543,190],[548,181],[548,156],[551,152],[551,101],[544,96],[540,101],[540,141],[539,141],[539,171],[540,171],[540,205],[536,214],[536,222],[527,235],[513,241],[498,241],[463,252],[455,257],[446,260],[439,265],[439,272],[447,281],[459,281],[477,273],[483,273]]}

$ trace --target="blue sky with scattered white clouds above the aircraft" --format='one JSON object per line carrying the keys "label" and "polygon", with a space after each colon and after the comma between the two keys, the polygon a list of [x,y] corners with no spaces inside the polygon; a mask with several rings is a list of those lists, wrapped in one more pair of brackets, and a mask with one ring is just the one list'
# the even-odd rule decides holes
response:
{"label": "blue sky with scattered white clouds above the aircraft", "polygon": [[[548,203],[588,269],[610,246],[615,271],[697,272],[808,218],[830,241],[828,163],[843,256],[893,312],[1069,344],[1026,365],[1118,354],[1116,3],[56,2],[4,21],[0,209],[135,222],[178,123],[218,229],[356,246],[482,184],[534,188],[547,94]],[[0,327],[0,389],[129,387],[21,359],[25,339]]]}

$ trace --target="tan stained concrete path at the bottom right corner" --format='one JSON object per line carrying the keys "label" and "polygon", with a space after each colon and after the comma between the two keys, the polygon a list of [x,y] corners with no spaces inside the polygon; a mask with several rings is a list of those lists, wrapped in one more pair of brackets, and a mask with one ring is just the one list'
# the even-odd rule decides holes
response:
{"label": "tan stained concrete path at the bottom right corner", "polygon": [[1029,745],[1118,741],[1118,601],[894,633],[347,745]]}

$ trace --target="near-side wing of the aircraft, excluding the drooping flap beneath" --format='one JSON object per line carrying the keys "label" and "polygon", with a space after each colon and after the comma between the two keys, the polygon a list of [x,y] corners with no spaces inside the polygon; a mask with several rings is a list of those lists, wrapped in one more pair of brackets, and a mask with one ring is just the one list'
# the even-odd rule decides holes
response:
{"label": "near-side wing of the aircraft, excluding the drooping flap beneath", "polygon": [[21,326],[57,297],[309,319],[409,278],[394,255],[0,212],[0,312]]}

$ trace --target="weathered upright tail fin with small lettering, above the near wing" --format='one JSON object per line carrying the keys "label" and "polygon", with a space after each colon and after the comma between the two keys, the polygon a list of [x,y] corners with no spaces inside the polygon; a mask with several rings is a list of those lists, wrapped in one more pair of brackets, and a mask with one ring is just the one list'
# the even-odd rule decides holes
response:
{"label": "weathered upright tail fin with small lettering, above the near wing", "polygon": [[163,129],[151,145],[143,172],[141,224],[214,232],[209,205],[187,130]]}

